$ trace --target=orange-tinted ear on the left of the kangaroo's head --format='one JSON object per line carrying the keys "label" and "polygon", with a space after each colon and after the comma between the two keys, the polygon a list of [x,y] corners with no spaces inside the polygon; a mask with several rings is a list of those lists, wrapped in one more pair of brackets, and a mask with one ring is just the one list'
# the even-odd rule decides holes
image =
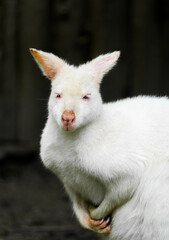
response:
{"label": "orange-tinted ear on the left of the kangaroo's head", "polygon": [[34,48],[30,48],[30,52],[43,74],[51,80],[55,79],[56,75],[60,73],[66,65],[64,60],[52,53],[43,52]]}

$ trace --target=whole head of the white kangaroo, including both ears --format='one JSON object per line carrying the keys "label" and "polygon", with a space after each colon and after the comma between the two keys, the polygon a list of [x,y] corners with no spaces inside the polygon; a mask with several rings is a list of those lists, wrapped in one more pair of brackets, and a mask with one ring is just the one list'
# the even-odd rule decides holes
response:
{"label": "whole head of the white kangaroo, including both ears", "polygon": [[75,130],[101,114],[100,83],[116,64],[120,52],[101,55],[75,67],[51,53],[32,48],[30,51],[43,74],[51,79],[49,114],[61,129]]}

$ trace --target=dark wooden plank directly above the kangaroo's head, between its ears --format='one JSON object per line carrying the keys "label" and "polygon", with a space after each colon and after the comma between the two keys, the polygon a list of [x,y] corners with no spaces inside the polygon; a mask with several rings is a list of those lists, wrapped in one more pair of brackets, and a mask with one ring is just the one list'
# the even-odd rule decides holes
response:
{"label": "dark wooden plank directly above the kangaroo's head, between its ears", "polygon": [[78,65],[89,57],[88,0],[53,1],[53,51]]}

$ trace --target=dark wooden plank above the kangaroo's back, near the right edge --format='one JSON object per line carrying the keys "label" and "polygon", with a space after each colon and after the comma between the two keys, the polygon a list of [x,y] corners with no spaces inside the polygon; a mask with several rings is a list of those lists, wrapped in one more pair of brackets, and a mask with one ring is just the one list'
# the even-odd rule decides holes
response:
{"label": "dark wooden plank above the kangaroo's back, near the right edge", "polygon": [[133,95],[157,94],[161,59],[155,1],[133,1],[132,26]]}

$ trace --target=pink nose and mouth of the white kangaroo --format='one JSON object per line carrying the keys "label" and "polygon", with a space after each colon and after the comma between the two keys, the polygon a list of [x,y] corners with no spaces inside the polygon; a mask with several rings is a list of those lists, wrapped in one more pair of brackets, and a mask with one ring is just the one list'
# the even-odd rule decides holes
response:
{"label": "pink nose and mouth of the white kangaroo", "polygon": [[72,110],[65,110],[61,116],[61,120],[64,130],[72,130],[75,121],[75,113]]}

